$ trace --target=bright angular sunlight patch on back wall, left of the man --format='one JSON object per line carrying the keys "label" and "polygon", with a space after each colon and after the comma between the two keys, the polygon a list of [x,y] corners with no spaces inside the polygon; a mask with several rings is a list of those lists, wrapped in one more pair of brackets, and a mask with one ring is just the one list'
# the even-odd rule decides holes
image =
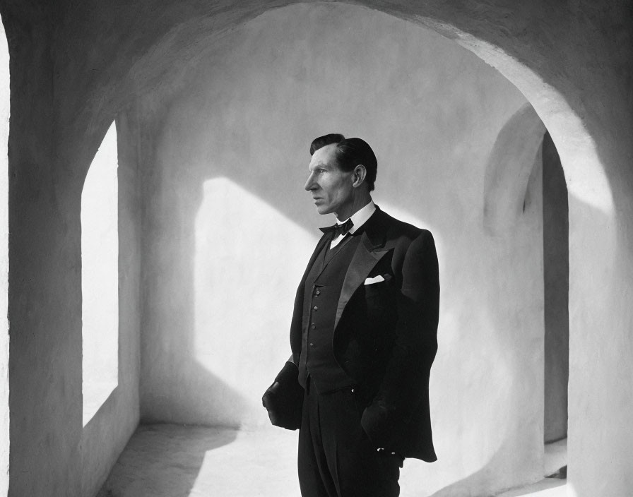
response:
{"label": "bright angular sunlight patch on back wall, left of the man", "polygon": [[268,424],[261,394],[290,355],[292,305],[317,237],[222,177],[203,184],[195,233],[195,357]]}

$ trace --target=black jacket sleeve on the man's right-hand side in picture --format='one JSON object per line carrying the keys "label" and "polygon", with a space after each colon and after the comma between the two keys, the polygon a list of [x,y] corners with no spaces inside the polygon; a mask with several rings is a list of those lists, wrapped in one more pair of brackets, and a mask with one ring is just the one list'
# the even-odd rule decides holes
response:
{"label": "black jacket sleeve on the man's right-hand side in picture", "polygon": [[398,446],[398,426],[427,402],[431,364],[437,352],[439,270],[432,234],[422,230],[403,257],[396,296],[396,341],[377,395],[361,424],[377,448]]}

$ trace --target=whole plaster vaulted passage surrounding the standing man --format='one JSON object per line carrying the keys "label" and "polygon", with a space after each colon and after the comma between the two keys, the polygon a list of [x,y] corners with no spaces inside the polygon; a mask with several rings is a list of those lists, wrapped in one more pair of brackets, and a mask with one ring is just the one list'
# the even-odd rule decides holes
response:
{"label": "whole plaster vaulted passage surrounding the standing man", "polygon": [[[407,460],[401,495],[535,484],[544,443],[565,437],[567,481],[530,489],[627,495],[625,2],[0,13],[9,496],[297,495],[297,434],[269,426],[261,394],[333,221],[302,188],[309,143],[329,132],[372,145],[374,200],[437,244],[438,461]],[[108,148],[116,174],[99,179]]]}

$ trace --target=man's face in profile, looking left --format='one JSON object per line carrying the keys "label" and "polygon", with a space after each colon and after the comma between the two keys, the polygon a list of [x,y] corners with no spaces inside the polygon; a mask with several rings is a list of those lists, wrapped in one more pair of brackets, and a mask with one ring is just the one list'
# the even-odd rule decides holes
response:
{"label": "man's face in profile, looking left", "polygon": [[335,155],[336,144],[325,145],[310,160],[305,189],[312,192],[319,214],[346,212],[353,203],[354,173],[339,169]]}

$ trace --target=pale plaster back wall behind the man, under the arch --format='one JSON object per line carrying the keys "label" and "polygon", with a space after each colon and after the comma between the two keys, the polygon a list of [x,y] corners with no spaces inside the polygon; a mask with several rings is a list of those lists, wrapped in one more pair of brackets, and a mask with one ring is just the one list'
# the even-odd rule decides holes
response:
{"label": "pale plaster back wall behind the man, under the arch", "polygon": [[215,42],[143,176],[141,418],[268,424],[261,393],[288,357],[317,227],[332,222],[302,189],[309,142],[338,131],[377,152],[381,208],[438,247],[439,462],[409,462],[403,485],[474,496],[540,478],[540,140],[531,157],[507,154],[528,161],[516,222],[491,235],[483,220],[488,160],[525,103],[456,44],[364,8],[284,8]]}

